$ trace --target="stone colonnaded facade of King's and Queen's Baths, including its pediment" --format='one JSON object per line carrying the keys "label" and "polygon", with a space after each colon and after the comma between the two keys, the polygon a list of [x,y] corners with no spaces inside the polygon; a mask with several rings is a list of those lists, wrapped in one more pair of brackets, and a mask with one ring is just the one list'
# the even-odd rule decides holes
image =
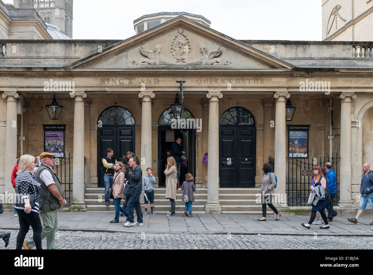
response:
{"label": "stone colonnaded facade of King's and Queen's Baths, including its pediment", "polygon": [[[65,156],[73,157],[72,211],[86,210],[85,188],[102,186],[100,157],[107,147],[117,159],[134,151],[141,169],[152,167],[164,187],[162,152],[180,136],[188,159],[183,173],[207,189],[204,211],[221,213],[219,185],[233,197],[257,188],[269,156],[276,193],[289,194],[287,127],[307,126],[306,158],[338,153],[337,209],[356,210],[362,164],[373,162],[373,59],[353,53],[366,43],[239,41],[183,15],[122,41],[3,42],[19,50],[0,64],[0,193],[12,192],[16,156],[39,155],[43,125],[59,124],[66,125]],[[201,121],[200,129],[175,129],[170,122],[181,80],[184,118]],[[63,105],[56,121],[45,106],[53,93]],[[291,121],[285,119],[288,99],[296,107]],[[309,208],[281,198],[282,211]]]}

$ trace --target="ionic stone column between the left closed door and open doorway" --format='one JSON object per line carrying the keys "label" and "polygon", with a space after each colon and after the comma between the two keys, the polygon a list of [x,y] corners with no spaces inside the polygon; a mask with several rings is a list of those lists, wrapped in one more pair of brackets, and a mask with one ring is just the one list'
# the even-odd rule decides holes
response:
{"label": "ionic stone column between the left closed door and open doorway", "polygon": [[153,91],[141,91],[141,153],[140,163],[142,176],[146,175],[147,167],[151,167],[151,99],[156,95]]}

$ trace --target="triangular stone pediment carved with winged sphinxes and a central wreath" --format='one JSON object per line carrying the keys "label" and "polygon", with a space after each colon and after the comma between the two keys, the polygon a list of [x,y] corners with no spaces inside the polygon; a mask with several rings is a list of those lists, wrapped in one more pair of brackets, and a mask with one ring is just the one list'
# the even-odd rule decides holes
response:
{"label": "triangular stone pediment carved with winged sphinxes and a central wreath", "polygon": [[67,69],[292,69],[293,65],[179,15]]}

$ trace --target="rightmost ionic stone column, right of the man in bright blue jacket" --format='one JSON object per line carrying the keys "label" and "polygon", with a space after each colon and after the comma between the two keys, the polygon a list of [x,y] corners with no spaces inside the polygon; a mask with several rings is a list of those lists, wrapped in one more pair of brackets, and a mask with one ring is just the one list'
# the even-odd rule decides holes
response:
{"label": "rightmost ionic stone column, right of the man in bright blue jacket", "polygon": [[342,93],[341,98],[341,169],[339,174],[339,203],[341,207],[354,207],[351,200],[351,102],[354,93]]}

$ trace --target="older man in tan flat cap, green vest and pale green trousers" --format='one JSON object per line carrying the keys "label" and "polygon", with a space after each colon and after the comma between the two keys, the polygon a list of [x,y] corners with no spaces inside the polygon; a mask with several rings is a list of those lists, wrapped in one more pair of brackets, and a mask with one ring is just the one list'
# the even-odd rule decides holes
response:
{"label": "older man in tan flat cap, green vest and pale green trousers", "polygon": [[[66,200],[63,198],[64,191],[61,182],[57,175],[53,173],[53,161],[54,155],[47,152],[41,153],[41,165],[34,175],[41,184],[39,192],[40,217],[43,220],[41,239],[47,238],[47,249],[57,249],[57,209],[66,205]],[[25,249],[31,249],[34,246],[35,242],[32,236],[23,242],[23,248]]]}

